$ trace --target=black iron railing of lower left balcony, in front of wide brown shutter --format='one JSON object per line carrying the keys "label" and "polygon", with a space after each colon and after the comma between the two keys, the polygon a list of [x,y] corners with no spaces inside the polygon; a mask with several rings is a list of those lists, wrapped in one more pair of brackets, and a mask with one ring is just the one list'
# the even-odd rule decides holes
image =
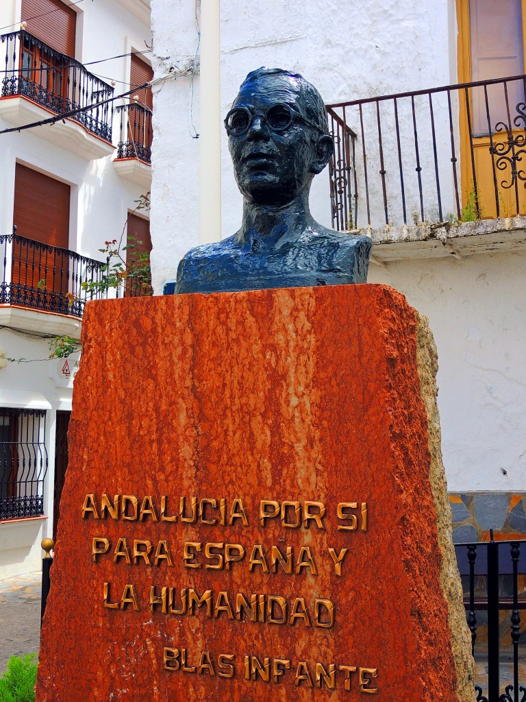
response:
{"label": "black iron railing of lower left balcony, in front of wide brown shutter", "polygon": [[102,279],[102,261],[17,234],[0,236],[0,255],[4,259],[2,304],[82,317],[88,300],[106,296],[83,287],[83,283]]}

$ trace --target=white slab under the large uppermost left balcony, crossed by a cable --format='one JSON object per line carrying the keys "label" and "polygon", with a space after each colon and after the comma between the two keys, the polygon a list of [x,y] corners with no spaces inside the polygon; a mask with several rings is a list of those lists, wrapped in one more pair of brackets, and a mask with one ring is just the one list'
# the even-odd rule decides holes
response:
{"label": "white slab under the large uppermost left balcony, crossed by a cable", "polygon": [[[56,117],[56,113],[38,105],[24,95],[0,98],[0,117],[15,127]],[[46,141],[62,146],[85,159],[102,159],[114,152],[114,145],[92,134],[79,122],[59,119],[55,124],[43,124],[32,132]]]}

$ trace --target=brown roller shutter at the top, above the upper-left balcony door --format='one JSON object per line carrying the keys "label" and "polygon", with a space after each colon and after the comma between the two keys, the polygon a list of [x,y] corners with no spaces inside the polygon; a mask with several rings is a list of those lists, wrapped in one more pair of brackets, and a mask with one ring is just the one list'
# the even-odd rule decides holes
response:
{"label": "brown roller shutter at the top, above the upper-left balcony door", "polygon": [[75,58],[76,13],[67,4],[60,0],[22,0],[22,22],[27,22],[29,34]]}

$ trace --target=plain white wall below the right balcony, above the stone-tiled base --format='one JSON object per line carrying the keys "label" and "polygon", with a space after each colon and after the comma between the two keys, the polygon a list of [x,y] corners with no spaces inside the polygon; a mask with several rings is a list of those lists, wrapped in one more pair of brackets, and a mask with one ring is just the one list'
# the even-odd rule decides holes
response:
{"label": "plain white wall below the right balcony, above the stone-tiled base", "polygon": [[525,490],[526,251],[370,266],[429,318],[453,492]]}

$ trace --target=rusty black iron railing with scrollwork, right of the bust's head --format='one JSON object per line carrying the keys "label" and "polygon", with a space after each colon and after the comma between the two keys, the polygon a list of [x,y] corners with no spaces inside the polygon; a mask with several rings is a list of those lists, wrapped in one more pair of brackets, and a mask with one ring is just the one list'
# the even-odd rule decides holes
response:
{"label": "rusty black iron railing with scrollwork, right of the bust's head", "polygon": [[328,105],[335,228],[526,213],[526,75]]}

